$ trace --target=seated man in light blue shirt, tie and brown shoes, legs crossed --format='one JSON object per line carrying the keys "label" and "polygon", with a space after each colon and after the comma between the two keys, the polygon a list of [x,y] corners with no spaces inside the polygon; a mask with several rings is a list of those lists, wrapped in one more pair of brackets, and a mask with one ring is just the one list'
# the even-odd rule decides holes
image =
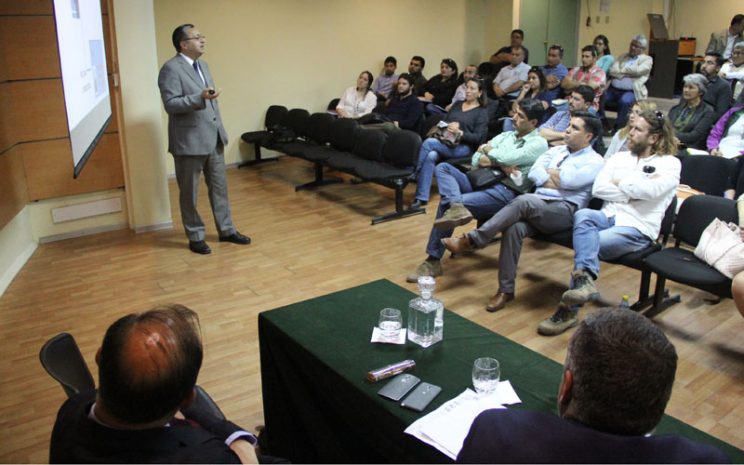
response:
{"label": "seated man in light blue shirt, tie and brown shoes, legs crossed", "polygon": [[452,253],[487,246],[498,233],[499,288],[486,305],[496,312],[514,300],[517,264],[525,237],[540,232],[553,234],[573,227],[574,212],[586,208],[592,197],[592,184],[604,164],[592,149],[592,141],[602,137],[602,122],[588,112],[574,113],[564,136],[565,145],[553,147],[537,159],[529,179],[537,190],[520,195],[478,229],[458,238],[443,239]]}

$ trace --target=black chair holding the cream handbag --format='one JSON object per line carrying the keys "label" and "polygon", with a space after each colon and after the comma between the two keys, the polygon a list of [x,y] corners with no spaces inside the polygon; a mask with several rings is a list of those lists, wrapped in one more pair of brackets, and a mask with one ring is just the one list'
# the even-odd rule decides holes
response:
{"label": "black chair holding the cream handbag", "polygon": [[651,254],[645,260],[648,268],[657,276],[654,305],[646,312],[647,316],[657,315],[674,301],[679,302],[679,298],[663,301],[667,279],[719,297],[731,297],[729,278],[698,259],[692,250],[680,247],[682,243],[695,247],[705,228],[715,218],[736,223],[736,203],[712,195],[693,195],[682,203],[674,225],[674,247]]}

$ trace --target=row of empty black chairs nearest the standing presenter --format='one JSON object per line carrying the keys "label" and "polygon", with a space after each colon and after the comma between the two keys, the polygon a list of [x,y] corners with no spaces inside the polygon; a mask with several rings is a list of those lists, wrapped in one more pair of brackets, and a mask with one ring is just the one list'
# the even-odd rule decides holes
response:
{"label": "row of empty black chairs nearest the standing presenter", "polygon": [[342,182],[325,177],[324,168],[351,174],[395,191],[395,210],[372,219],[372,224],[425,213],[405,208],[403,190],[416,166],[421,137],[412,131],[368,129],[351,119],[337,119],[320,112],[272,105],[266,113],[266,129],[248,132],[243,141],[253,144],[261,163],[261,148],[275,150],[313,163],[315,179],[295,186],[295,191]]}

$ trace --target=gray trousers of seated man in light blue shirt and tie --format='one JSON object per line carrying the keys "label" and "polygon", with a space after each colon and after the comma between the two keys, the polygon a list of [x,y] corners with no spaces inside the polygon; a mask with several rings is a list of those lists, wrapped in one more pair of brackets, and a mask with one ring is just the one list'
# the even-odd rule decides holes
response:
{"label": "gray trousers of seated man in light blue shirt and tie", "polygon": [[553,234],[573,228],[576,205],[565,200],[545,200],[535,194],[518,196],[468,237],[476,247],[485,247],[499,232],[499,292],[514,293],[517,264],[525,237],[541,232]]}

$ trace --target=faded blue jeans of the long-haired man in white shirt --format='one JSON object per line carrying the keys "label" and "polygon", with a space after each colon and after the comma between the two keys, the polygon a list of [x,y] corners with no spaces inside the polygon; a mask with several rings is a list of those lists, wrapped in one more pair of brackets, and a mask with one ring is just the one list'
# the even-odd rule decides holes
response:
{"label": "faded blue jeans of the long-haired man in white shirt", "polygon": [[599,276],[599,260],[612,260],[648,247],[651,239],[636,228],[615,226],[615,217],[607,218],[599,210],[583,208],[574,215],[574,270]]}

